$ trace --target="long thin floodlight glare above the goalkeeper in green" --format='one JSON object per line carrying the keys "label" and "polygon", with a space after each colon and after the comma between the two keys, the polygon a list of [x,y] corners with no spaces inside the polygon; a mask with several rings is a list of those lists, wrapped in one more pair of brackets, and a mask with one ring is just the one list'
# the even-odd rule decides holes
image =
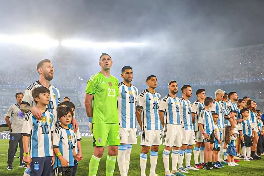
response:
{"label": "long thin floodlight glare above the goalkeeper in green", "polygon": [[76,47],[76,48],[120,48],[120,47],[139,47],[145,45],[144,43],[94,43],[81,40],[63,40],[61,45],[65,47]]}

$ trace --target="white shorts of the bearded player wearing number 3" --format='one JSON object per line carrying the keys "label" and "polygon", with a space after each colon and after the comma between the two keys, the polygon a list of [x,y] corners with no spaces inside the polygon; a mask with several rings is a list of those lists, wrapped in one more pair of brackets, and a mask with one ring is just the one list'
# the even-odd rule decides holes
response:
{"label": "white shorts of the bearded player wearing number 3", "polygon": [[165,124],[163,127],[163,145],[168,147],[182,146],[182,125]]}

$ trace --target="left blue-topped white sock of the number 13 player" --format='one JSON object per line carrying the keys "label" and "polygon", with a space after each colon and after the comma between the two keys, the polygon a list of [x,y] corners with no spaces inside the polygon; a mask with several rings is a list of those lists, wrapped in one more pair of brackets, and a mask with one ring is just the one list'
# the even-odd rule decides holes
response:
{"label": "left blue-topped white sock of the number 13 player", "polygon": [[125,155],[128,150],[128,144],[118,146],[117,163],[121,176],[125,176],[127,172]]}

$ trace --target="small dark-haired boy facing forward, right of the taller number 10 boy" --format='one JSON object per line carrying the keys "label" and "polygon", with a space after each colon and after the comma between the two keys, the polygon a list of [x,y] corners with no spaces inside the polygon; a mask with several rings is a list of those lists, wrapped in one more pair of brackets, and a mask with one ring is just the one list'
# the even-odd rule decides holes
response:
{"label": "small dark-haired boy facing forward, right of the taller number 10 boy", "polygon": [[61,124],[55,129],[53,136],[53,150],[55,157],[55,176],[72,176],[74,159],[82,158],[75,152],[74,132],[69,128],[73,112],[70,107],[60,106],[57,108],[58,120]]}

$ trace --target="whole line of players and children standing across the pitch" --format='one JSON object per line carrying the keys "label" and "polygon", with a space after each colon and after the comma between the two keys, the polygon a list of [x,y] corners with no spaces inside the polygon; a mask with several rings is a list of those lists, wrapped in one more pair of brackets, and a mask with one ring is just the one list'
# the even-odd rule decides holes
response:
{"label": "whole line of players and children standing across the pitch", "polygon": [[[139,93],[131,84],[133,69],[123,67],[123,81],[119,83],[110,74],[112,64],[112,58],[103,53],[99,59],[101,71],[91,76],[85,90],[85,109],[94,140],[89,176],[97,175],[106,146],[105,175],[113,175],[116,160],[120,175],[129,175],[132,145],[137,144],[138,138],[136,120],[142,130],[141,176],[146,176],[148,153],[149,176],[157,176],[159,145],[164,145],[165,176],[184,176],[188,170],[237,166],[237,159],[260,159],[257,144],[259,135],[263,135],[263,123],[259,120],[256,102],[249,97],[238,99],[235,92],[226,94],[219,89],[212,99],[206,97],[205,89],[198,89],[195,93],[197,100],[191,104],[192,87],[183,85],[182,97],[179,98],[176,96],[178,83],[171,80],[168,83],[169,94],[162,98],[155,91],[158,83],[155,75],[146,78],[148,88]],[[20,102],[17,99],[16,104],[26,113],[21,132],[17,132],[23,136],[21,163],[28,163],[23,165],[26,167],[24,176],[74,176],[78,162],[82,160],[75,106],[66,99],[61,102],[59,90],[50,85],[54,74],[50,60],[39,62],[37,70],[40,80],[32,83],[25,95],[18,93]],[[10,150],[12,155],[15,148]],[[169,169],[170,152],[172,170]],[[190,164],[192,153],[194,165]],[[7,169],[11,170],[13,161],[9,160],[8,156]]]}

